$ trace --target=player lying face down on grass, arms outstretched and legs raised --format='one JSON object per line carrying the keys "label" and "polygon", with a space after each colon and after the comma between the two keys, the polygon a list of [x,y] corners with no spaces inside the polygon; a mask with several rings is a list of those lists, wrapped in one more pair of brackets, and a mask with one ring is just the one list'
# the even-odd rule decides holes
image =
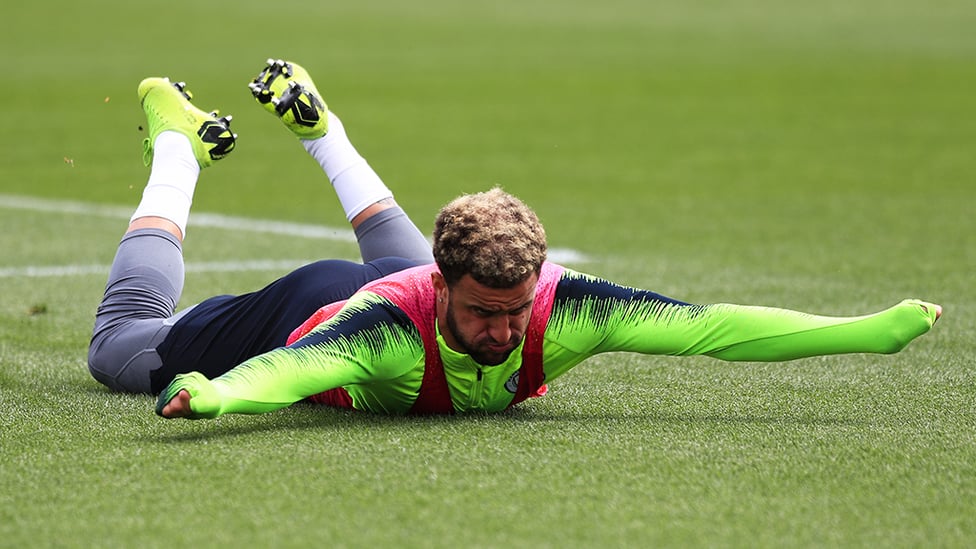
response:
{"label": "player lying face down on grass, arms outstretched and legs raised", "polygon": [[[196,168],[226,155],[233,135],[179,86],[143,82],[152,173],[109,277],[90,362],[110,387],[159,392],[164,417],[261,413],[301,400],[389,414],[499,411],[544,394],[547,382],[599,353],[749,361],[894,353],[942,313],[910,299],[826,317],[694,305],[625,287],[546,261],[538,218],[499,189],[441,210],[431,262],[426,240],[355,153],[306,71],[270,62],[251,91],[322,165],[367,263],[319,262],[173,316]],[[187,123],[177,122],[183,111],[195,113]],[[217,130],[203,131],[213,123]],[[182,152],[164,148],[170,139]],[[347,188],[340,180],[349,172]],[[191,182],[185,197],[157,208],[167,199],[154,185],[174,181]]]}

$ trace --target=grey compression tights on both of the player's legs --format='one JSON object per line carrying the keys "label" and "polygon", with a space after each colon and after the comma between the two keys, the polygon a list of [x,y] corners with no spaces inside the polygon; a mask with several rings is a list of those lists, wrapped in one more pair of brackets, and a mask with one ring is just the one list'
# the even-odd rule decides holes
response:
{"label": "grey compression tights on both of the player's legs", "polygon": [[[364,262],[383,257],[434,260],[430,243],[399,207],[370,217],[355,233]],[[151,391],[149,372],[161,366],[156,347],[189,310],[173,314],[183,277],[183,248],[176,237],[158,229],[123,237],[95,315],[88,350],[92,377],[116,391]]]}

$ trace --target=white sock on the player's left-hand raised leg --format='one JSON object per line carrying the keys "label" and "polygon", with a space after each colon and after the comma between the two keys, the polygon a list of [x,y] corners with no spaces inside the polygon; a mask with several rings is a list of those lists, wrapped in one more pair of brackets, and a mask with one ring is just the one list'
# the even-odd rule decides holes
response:
{"label": "white sock on the player's left-hand raised leg", "polygon": [[179,226],[185,237],[193,191],[199,177],[200,165],[193,155],[190,139],[175,131],[160,133],[153,144],[149,181],[132,220],[162,217]]}

